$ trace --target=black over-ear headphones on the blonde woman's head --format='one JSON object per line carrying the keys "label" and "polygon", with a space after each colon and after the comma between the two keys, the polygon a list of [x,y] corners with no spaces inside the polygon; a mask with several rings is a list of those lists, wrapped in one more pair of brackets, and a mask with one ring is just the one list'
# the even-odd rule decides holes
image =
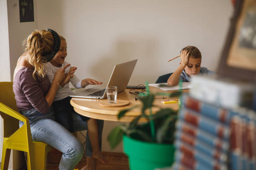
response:
{"label": "black over-ear headphones on the blonde woman's head", "polygon": [[57,34],[57,32],[55,32],[54,30],[51,30],[51,29],[47,29],[46,31],[50,31],[51,34],[54,36],[54,51],[53,52],[48,52],[48,53],[43,53],[42,56],[44,57],[43,58],[43,61],[44,62],[49,62],[51,61],[51,59],[53,59],[53,57],[56,55],[56,53],[59,51],[59,47],[60,47],[60,37],[59,35]]}

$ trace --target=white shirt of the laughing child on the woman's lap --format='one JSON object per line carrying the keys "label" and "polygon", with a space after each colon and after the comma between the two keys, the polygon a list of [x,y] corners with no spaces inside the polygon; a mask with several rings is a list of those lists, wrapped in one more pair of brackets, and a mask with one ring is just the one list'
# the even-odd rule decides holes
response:
{"label": "white shirt of the laughing child on the woman's lap", "polygon": [[[51,62],[46,62],[44,64],[44,70],[46,71],[47,76],[49,77],[50,82],[52,83],[52,80],[54,79],[54,75],[56,73],[57,70],[59,70],[60,68],[63,68],[64,66],[70,64],[69,62],[64,61],[64,64],[62,64],[61,67],[56,67],[54,65],[51,64]],[[67,74],[70,70],[72,66],[70,65],[69,67],[66,68],[65,73]],[[72,85],[75,88],[82,88],[81,87],[81,82],[82,80],[80,80],[79,78],[77,78],[77,76],[74,74],[74,77],[72,77],[70,79],[70,82],[72,83]],[[67,83],[66,85],[64,85],[64,87],[61,87],[61,85],[59,85],[59,89],[56,92],[54,101],[57,100],[62,100],[66,97],[68,97],[69,95],[72,95],[74,92],[72,92],[72,90],[69,88],[69,83]]]}

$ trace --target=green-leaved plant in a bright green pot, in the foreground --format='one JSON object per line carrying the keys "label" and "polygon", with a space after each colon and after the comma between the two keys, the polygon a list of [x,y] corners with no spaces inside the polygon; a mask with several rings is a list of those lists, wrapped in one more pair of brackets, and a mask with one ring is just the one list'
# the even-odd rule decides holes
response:
{"label": "green-leaved plant in a bright green pot, in the foreground", "polygon": [[[146,85],[146,95],[138,97],[142,105],[121,110],[118,119],[135,107],[141,107],[141,114],[133,119],[128,126],[121,124],[115,127],[108,135],[110,147],[115,148],[123,139],[124,153],[128,155],[131,170],[154,170],[171,166],[174,159],[174,131],[177,120],[177,110],[159,108],[152,114],[152,107],[156,95],[176,97],[181,91],[173,93],[152,94]],[[149,112],[147,114],[146,112]],[[146,123],[138,123],[145,117]]]}

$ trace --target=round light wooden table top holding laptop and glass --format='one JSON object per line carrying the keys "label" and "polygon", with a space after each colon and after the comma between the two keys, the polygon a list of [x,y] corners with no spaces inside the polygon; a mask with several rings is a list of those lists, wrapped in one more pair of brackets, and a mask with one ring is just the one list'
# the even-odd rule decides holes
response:
{"label": "round light wooden table top holding laptop and glass", "polygon": [[[125,114],[124,117],[122,117],[120,120],[118,120],[118,112],[123,109],[128,109],[130,107],[133,107],[135,105],[141,105],[141,102],[139,100],[134,100],[136,95],[133,95],[129,93],[131,89],[126,89],[123,92],[118,93],[117,99],[120,100],[128,100],[130,102],[129,105],[124,107],[102,107],[100,106],[99,102],[101,100],[107,100],[107,99],[87,99],[87,98],[78,98],[73,97],[70,101],[71,105],[74,107],[74,110],[80,114],[87,117],[100,119],[100,120],[110,120],[110,121],[120,121],[120,122],[131,122],[134,117],[141,114],[141,107],[137,107]],[[156,87],[150,86],[151,93],[155,92],[174,92],[174,91],[164,91]],[[166,96],[155,96],[155,97],[166,97]],[[178,97],[173,98],[155,98],[154,105],[160,106],[162,108],[172,108],[173,110],[179,109],[178,103],[171,103],[171,104],[163,104],[161,101],[164,100],[176,100]],[[152,112],[156,112],[159,110],[158,107],[153,107]],[[146,111],[147,114],[149,114],[148,110]],[[146,122],[146,118],[141,118],[139,120],[140,122]]]}

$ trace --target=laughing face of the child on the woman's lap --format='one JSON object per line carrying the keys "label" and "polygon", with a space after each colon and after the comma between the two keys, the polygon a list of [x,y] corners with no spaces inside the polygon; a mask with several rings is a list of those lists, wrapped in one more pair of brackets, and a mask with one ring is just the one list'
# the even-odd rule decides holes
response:
{"label": "laughing face of the child on the woman's lap", "polygon": [[65,61],[66,56],[67,56],[67,42],[66,40],[61,40],[59,51],[56,53],[56,55],[50,62],[52,65],[56,67],[61,67],[61,65]]}

